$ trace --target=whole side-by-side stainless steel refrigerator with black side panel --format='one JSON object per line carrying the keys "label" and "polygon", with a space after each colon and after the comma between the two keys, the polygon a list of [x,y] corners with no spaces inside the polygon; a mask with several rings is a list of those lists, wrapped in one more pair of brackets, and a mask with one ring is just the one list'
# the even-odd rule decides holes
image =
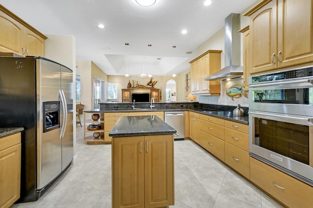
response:
{"label": "whole side-by-side stainless steel refrigerator with black side panel", "polygon": [[22,132],[21,198],[37,200],[73,158],[73,82],[42,57],[0,57],[0,127]]}

